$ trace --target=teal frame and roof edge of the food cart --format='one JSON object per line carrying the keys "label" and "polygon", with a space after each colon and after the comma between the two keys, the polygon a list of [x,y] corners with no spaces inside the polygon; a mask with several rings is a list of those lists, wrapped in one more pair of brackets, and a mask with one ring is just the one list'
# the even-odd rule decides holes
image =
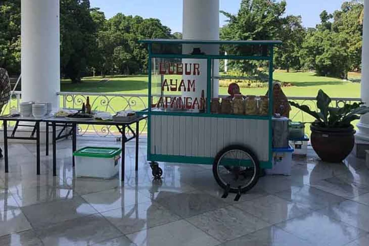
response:
{"label": "teal frame and roof edge of the food cart", "polygon": [[[148,151],[147,160],[149,162],[175,162],[189,164],[213,164],[214,157],[203,156],[186,156],[186,155],[162,155],[151,152],[152,140],[152,121],[155,116],[181,116],[181,117],[210,117],[224,119],[257,119],[268,121],[269,123],[269,156],[268,160],[260,161],[260,167],[263,169],[272,168],[272,109],[273,109],[273,54],[274,46],[282,44],[281,41],[204,41],[204,40],[182,40],[182,39],[148,39],[139,41],[148,46],[148,108],[140,111],[139,114],[148,115]],[[210,55],[210,54],[173,54],[173,53],[155,53],[153,45],[260,45],[267,49],[266,56],[247,56],[247,55]],[[153,58],[168,58],[168,59],[205,59],[207,60],[207,94],[206,94],[206,111],[200,113],[191,112],[170,112],[170,111],[155,111],[151,108],[152,98],[152,59]],[[212,114],[210,113],[211,101],[211,86],[212,86],[212,61],[214,59],[231,59],[231,60],[265,60],[269,62],[269,113],[266,116],[262,115],[234,115],[234,114]],[[226,147],[226,146],[224,146]]]}

